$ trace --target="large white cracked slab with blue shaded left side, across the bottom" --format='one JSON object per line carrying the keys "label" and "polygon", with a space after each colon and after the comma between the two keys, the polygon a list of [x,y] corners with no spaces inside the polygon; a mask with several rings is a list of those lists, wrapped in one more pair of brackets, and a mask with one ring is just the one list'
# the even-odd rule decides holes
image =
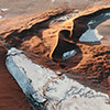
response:
{"label": "large white cracked slab with blue shaded left side, across the bottom", "polygon": [[[46,110],[110,110],[108,96],[85,87],[65,75],[32,63],[22,51],[11,48],[6,61],[10,74],[23,92],[40,102]],[[59,75],[59,72],[58,72]]]}

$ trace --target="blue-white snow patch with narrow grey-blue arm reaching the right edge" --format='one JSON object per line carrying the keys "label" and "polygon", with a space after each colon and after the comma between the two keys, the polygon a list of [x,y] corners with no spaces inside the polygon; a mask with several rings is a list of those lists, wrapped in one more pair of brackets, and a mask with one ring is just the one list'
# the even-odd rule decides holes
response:
{"label": "blue-white snow patch with narrow grey-blue arm reaching the right edge", "polygon": [[99,42],[103,36],[98,33],[97,25],[110,19],[110,13],[95,16],[87,24],[88,30],[80,36],[80,42]]}

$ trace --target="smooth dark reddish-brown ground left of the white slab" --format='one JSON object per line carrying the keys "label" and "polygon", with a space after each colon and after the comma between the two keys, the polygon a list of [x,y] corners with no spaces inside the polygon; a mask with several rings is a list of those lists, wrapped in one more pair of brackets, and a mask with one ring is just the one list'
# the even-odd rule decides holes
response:
{"label": "smooth dark reddish-brown ground left of the white slab", "polygon": [[7,51],[0,44],[0,109],[1,110],[32,110],[22,89],[6,67]]}

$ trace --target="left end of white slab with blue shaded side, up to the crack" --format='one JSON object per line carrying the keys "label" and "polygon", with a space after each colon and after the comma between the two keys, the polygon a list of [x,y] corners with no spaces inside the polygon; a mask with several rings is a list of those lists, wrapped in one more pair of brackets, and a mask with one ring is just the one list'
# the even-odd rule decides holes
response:
{"label": "left end of white slab with blue shaded side, up to the crack", "polygon": [[[35,97],[36,91],[42,90],[41,88],[43,88],[47,81],[57,76],[54,72],[40,65],[35,65],[22,53],[22,51],[12,47],[7,54],[8,57],[6,64],[23,92]],[[43,96],[43,92],[37,92],[37,96]],[[38,102],[42,102],[43,100],[43,97],[37,99]]]}

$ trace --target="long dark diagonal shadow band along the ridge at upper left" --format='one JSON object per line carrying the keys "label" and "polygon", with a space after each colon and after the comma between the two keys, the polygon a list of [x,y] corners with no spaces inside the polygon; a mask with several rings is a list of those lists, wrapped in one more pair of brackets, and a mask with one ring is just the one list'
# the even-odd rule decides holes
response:
{"label": "long dark diagonal shadow band along the ridge at upper left", "polygon": [[[22,41],[30,40],[32,36],[36,35],[37,37],[42,38],[42,32],[50,28],[50,23],[55,19],[62,15],[65,15],[69,12],[63,11],[61,13],[56,13],[55,15],[50,15],[48,19],[33,24],[30,29],[25,29],[21,32],[19,30],[14,30],[6,37],[6,42],[10,43],[12,46],[19,46]],[[2,33],[4,35],[6,33]]]}

